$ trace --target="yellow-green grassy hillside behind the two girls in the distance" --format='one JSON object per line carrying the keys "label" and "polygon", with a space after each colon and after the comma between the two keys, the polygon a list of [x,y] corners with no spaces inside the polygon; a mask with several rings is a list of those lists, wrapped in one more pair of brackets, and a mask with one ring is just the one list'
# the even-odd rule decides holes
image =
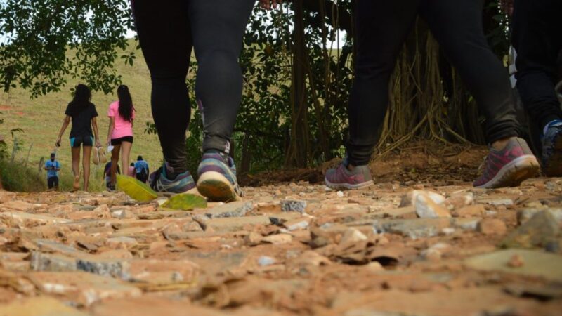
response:
{"label": "yellow-green grassy hillside behind the two girls in the distance", "polygon": [[[115,68],[122,75],[123,84],[129,86],[137,110],[131,159],[136,159],[138,154],[141,154],[153,168],[161,162],[162,154],[157,136],[144,133],[145,122],[152,121],[150,76],[141,51],[137,51],[136,55],[137,58],[132,67],[124,65],[122,60],[118,60]],[[12,150],[10,130],[20,128],[24,132],[16,134],[18,140],[22,140],[22,149],[18,151],[17,159],[25,161],[30,146],[32,147],[28,165],[37,166],[41,157],[48,157],[54,148],[57,133],[63,123],[65,108],[72,99],[70,88],[78,83],[77,79],[69,78],[67,86],[62,91],[34,99],[30,99],[30,93],[20,88],[15,88],[9,93],[1,92],[0,112],[2,114],[0,114],[0,118],[4,118],[4,124],[0,124],[0,135],[3,135],[8,143],[8,152]],[[92,102],[100,114],[98,126],[102,143],[105,143],[105,138],[107,138],[109,123],[107,108],[114,100],[117,100],[116,93],[106,96],[101,92],[93,92],[92,95]],[[63,136],[62,146],[58,150],[58,159],[63,164],[63,173],[65,173],[63,176],[72,173],[69,133],[70,126]],[[98,172],[102,171],[98,170]]]}

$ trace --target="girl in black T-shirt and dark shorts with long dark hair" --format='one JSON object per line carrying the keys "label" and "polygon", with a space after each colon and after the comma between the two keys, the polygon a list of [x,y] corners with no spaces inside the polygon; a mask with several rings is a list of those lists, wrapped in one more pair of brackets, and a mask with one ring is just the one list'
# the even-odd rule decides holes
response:
{"label": "girl in black T-shirt and dark shorts with long dark hair", "polygon": [[[79,84],[74,88],[74,98],[68,103],[66,108],[65,120],[63,126],[58,132],[56,145],[60,146],[60,138],[63,137],[68,124],[72,119],[72,128],[70,129],[70,147],[72,152],[72,173],[74,173],[74,190],[80,188],[80,147],[84,150],[82,159],[82,168],[84,169],[84,191],[88,191],[90,181],[90,155],[94,144],[94,136],[96,147],[101,147],[98,123],[96,117],[96,105],[90,102],[92,98],[90,89],[84,84]],[[93,130],[93,132],[92,132]]]}

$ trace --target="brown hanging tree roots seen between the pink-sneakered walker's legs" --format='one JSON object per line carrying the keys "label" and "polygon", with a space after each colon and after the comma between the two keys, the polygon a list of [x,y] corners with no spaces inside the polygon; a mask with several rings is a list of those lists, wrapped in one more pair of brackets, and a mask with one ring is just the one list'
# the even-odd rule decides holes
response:
{"label": "brown hanging tree roots seen between the pink-sneakered walker's legs", "polygon": [[[391,77],[391,97],[373,159],[399,150],[413,139],[429,140],[459,152],[469,143],[447,124],[448,105],[439,70],[439,46],[420,21],[405,44]],[[459,112],[457,109],[452,112]],[[458,123],[457,123],[458,125]],[[480,126],[476,126],[480,128]]]}

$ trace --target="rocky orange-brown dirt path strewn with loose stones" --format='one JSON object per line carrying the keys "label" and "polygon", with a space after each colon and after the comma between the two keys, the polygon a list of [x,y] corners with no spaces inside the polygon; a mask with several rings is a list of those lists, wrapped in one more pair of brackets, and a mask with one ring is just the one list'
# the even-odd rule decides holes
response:
{"label": "rocky orange-brown dirt path strewn with loose stones", "polygon": [[0,315],[561,315],[562,179],[409,184],[0,192]]}

